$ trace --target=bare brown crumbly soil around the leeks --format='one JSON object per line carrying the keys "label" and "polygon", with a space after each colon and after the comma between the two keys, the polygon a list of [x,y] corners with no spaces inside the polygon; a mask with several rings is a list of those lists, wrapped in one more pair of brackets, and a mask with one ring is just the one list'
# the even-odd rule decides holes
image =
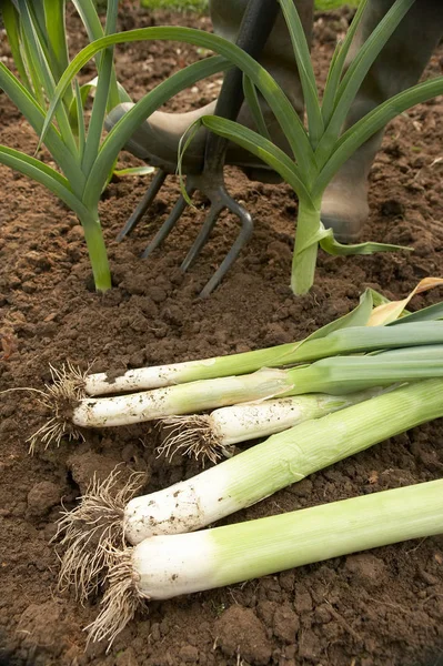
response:
{"label": "bare brown crumbly soil around the leeks", "polygon": [[[336,31],[348,13],[316,17],[313,57],[324,75]],[[132,10],[124,29],[151,23],[209,29],[192,14]],[[85,43],[70,18],[72,49]],[[1,58],[11,64],[4,40]],[[183,63],[203,57],[193,48],[143,43],[119,50],[119,78],[138,98]],[[440,74],[443,49],[425,75]],[[92,69],[84,72],[90,78]],[[194,108],[217,95],[220,80],[202,82],[170,103]],[[0,93],[0,143],[33,154],[37,141],[13,104]],[[143,364],[229,354],[300,340],[355,306],[373,286],[405,296],[425,275],[443,274],[443,100],[403,114],[385,135],[371,172],[369,239],[412,245],[413,254],[319,258],[315,285],[304,297],[289,289],[296,200],[285,185],[249,182],[228,172],[232,195],[244,201],[255,232],[223,284],[208,300],[198,294],[236,233],[225,215],[195,266],[179,265],[204,216],[188,210],[152,258],[140,253],[178,195],[169,179],[143,223],[124,242],[118,231],[142,196],[145,178],[108,188],[100,213],[114,289],[91,290],[82,230],[74,215],[44,189],[0,167],[0,390],[50,381],[49,364],[70,361],[85,370],[123,371]],[[44,158],[44,152],[42,153]],[[121,164],[137,164],[122,153]],[[441,293],[414,300],[431,304]],[[190,460],[169,465],[155,457],[150,425],[85,434],[58,450],[28,454],[27,437],[43,422],[32,394],[1,396],[0,451],[0,655],[4,663],[39,666],[422,666],[442,664],[443,541],[409,542],[288,571],[224,589],[152,603],[115,639],[85,648],[83,628],[100,599],[84,607],[57,591],[59,561],[49,543],[61,502],[68,508],[97,473],[117,464],[147,473],[154,491],[199,470]],[[312,475],[236,519],[278,514],[334,500],[437,478],[443,474],[442,422],[384,442]]]}

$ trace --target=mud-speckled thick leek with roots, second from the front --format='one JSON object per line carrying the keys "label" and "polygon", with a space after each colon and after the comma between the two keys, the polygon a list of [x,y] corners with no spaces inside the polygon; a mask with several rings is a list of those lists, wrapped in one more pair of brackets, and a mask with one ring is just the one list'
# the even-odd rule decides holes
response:
{"label": "mud-speckled thick leek with roots, second from the front", "polygon": [[[115,504],[113,512],[110,483],[105,484],[104,502],[100,487],[95,487],[61,521],[60,531],[64,532],[67,546],[61,571],[63,584],[75,586],[81,579],[84,595],[88,594],[90,572],[83,564],[84,547],[88,549],[89,543],[85,535],[91,532],[91,524],[94,531],[100,524],[101,503],[104,506],[102,529],[121,521],[121,534],[133,545],[150,536],[192,532],[251,506],[313,472],[440,416],[443,416],[443,380],[425,380],[306,421],[188,481],[134,497],[125,506]],[[94,578],[98,575],[95,567]]]}

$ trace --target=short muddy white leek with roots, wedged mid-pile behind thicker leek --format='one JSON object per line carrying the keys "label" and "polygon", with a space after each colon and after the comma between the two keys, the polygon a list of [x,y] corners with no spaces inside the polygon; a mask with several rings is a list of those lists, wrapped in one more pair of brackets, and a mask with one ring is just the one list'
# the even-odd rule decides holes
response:
{"label": "short muddy white leek with roots, wedged mid-pile behind thicker leek", "polygon": [[369,400],[375,391],[360,391],[345,397],[314,393],[296,397],[281,397],[232,407],[221,407],[211,414],[169,416],[163,425],[169,428],[164,442],[158,448],[160,455],[172,457],[174,453],[193,455],[217,463],[230,457],[232,445],[268,437],[310,418]]}

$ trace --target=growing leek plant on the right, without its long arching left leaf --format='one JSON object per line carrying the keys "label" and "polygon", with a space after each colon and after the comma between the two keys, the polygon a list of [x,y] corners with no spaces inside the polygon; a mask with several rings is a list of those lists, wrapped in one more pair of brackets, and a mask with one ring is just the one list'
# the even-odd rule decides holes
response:
{"label": "growing leek plant on the right, without its long arching left leaf", "polygon": [[[321,222],[321,201],[332,178],[370,137],[409,108],[443,92],[443,77],[426,81],[386,100],[341,135],[351,104],[371,64],[414,0],[396,0],[366,39],[345,71],[345,60],[362,19],[363,0],[342,43],[333,54],[321,100],[303,28],[292,0],[279,0],[291,36],[306,107],[306,128],[298,113],[285,105],[284,118],[276,115],[292,155],[285,155],[269,138],[261,118],[256,93],[245,79],[244,92],[262,135],[232,121],[204,117],[201,123],[212,132],[234,141],[272,167],[294,189],[299,198],[291,286],[294,294],[306,293],[313,284],[319,245],[329,254],[370,254],[399,250],[384,243],[341,244]],[[403,248],[403,250],[407,250]]]}

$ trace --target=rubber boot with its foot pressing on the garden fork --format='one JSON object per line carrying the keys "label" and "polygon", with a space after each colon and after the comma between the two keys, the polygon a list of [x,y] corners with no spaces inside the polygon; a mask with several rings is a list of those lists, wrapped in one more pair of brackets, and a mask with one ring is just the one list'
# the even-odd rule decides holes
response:
{"label": "rubber boot with its foot pressing on the garden fork", "polygon": [[[246,3],[248,0],[211,0],[210,13],[214,32],[234,42]],[[313,0],[295,0],[295,6],[306,38],[311,43]],[[276,19],[260,61],[279,82],[293,107],[302,115],[303,95],[291,40],[282,13]],[[289,151],[286,139],[262,98],[261,103],[263,117],[273,142],[283,150]],[[107,129],[112,128],[131,107],[132,104],[124,103],[113,109],[107,119]],[[188,113],[155,111],[134,132],[127,143],[125,149],[153,167],[160,167],[170,173],[174,173],[181,137],[195,120],[202,115],[212,114],[214,108],[215,101]],[[256,129],[245,103],[240,110],[238,122],[251,129]],[[205,135],[207,130],[202,128],[187,150],[182,164],[184,173],[199,173],[202,170]],[[280,176],[268,164],[261,162],[258,158],[234,143],[231,143],[229,147],[225,163],[241,167],[251,180],[281,182]]]}

